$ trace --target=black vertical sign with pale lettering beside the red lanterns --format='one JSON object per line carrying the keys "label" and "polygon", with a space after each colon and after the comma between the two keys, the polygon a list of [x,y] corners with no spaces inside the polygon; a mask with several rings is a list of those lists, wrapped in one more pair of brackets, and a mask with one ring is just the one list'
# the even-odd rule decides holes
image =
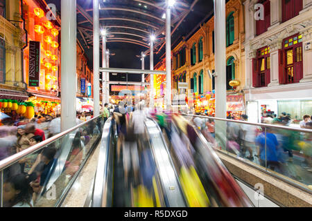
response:
{"label": "black vertical sign with pale lettering beside the red lanterns", "polygon": [[39,86],[40,78],[40,41],[29,41],[29,82],[31,87]]}

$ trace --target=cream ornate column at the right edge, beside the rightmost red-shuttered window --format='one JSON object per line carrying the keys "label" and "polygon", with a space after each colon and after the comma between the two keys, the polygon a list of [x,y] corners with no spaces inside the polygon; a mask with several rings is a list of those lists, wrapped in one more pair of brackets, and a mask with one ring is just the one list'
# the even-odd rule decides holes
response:
{"label": "cream ornate column at the right edge, beside the rightmost red-shuttered window", "polygon": [[302,60],[303,60],[303,78],[300,82],[312,81],[312,49],[306,50],[307,44],[312,44],[312,23],[309,24],[311,28],[300,32],[302,35]]}

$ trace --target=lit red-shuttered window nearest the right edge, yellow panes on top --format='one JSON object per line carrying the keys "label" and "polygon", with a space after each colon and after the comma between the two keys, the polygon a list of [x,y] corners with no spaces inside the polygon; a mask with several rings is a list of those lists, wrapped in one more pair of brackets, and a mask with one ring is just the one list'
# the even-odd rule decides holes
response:
{"label": "lit red-shuttered window nearest the right edge, yellow panes on top", "polygon": [[[298,83],[303,77],[302,35],[294,35],[283,41],[284,70],[281,84]],[[283,55],[281,55],[283,57]]]}

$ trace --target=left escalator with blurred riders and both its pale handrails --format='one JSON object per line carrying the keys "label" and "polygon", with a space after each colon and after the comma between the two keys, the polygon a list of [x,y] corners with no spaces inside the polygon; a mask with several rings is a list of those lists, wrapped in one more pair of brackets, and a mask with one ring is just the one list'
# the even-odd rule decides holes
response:
{"label": "left escalator with blurred riders and both its pale handrails", "polygon": [[[177,173],[157,124],[147,119],[146,132],[119,144],[116,122],[103,128],[92,207],[184,207]],[[128,171],[125,173],[125,170]]]}

